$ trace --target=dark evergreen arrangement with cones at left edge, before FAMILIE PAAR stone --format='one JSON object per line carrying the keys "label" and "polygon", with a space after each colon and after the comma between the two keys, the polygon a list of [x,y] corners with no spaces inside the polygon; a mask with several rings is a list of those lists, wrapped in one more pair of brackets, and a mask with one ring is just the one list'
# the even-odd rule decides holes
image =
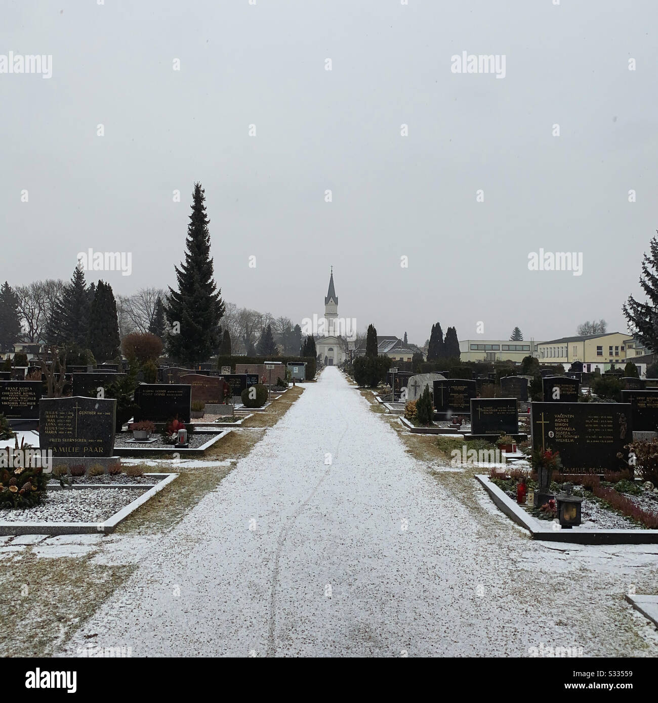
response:
{"label": "dark evergreen arrangement with cones at left edge, before FAMILIE PAAR stone", "polygon": [[14,439],[13,449],[0,450],[2,453],[2,469],[0,470],[0,508],[30,508],[41,503],[46,493],[48,477],[40,466],[33,460],[26,460],[26,449],[30,444]]}

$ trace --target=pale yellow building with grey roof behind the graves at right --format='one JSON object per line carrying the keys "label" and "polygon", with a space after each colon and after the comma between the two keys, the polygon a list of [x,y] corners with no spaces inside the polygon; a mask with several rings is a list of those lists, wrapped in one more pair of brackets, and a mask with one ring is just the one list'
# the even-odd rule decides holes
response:
{"label": "pale yellow building with grey roof behind the graves at right", "polygon": [[[633,337],[620,332],[562,337],[559,340],[541,342],[538,359],[540,363],[563,365],[581,361],[584,365],[583,371],[593,371],[596,368],[606,371],[612,364],[626,363],[627,342],[633,344]],[[628,356],[633,356],[631,349],[628,349]]]}

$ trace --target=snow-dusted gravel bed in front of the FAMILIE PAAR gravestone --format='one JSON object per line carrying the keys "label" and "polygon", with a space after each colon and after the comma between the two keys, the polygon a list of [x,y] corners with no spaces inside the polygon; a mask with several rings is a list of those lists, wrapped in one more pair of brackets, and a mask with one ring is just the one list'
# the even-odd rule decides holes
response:
{"label": "snow-dusted gravel bed in front of the FAMILIE PAAR gravestone", "polygon": [[139,489],[49,491],[41,505],[0,510],[0,522],[104,522],[144,494]]}

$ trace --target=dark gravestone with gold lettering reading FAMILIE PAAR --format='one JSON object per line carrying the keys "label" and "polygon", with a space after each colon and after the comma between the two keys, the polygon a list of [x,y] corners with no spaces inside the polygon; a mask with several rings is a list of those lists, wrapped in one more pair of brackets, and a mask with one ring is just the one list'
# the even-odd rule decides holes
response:
{"label": "dark gravestone with gold lettering reading FAMILIE PAAR", "polygon": [[114,399],[44,398],[39,404],[39,449],[58,464],[107,466],[113,457],[116,423]]}

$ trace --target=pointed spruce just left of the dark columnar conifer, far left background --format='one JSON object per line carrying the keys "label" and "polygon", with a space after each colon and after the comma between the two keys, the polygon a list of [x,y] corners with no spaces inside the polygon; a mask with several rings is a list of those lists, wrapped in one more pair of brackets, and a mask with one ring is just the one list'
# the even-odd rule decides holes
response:
{"label": "pointed spruce just left of the dark columnar conifer, far left background", "polygon": [[46,332],[47,340],[51,344],[75,344],[80,349],[87,349],[91,309],[89,297],[94,290],[93,285],[87,288],[84,271],[78,264],[53,311],[51,324]]}

